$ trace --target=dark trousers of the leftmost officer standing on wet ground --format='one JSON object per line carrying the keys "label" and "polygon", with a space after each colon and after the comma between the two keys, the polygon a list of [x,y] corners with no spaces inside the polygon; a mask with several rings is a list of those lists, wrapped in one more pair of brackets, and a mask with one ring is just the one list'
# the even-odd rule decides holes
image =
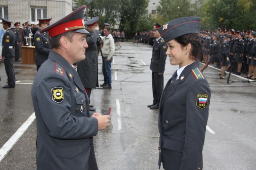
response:
{"label": "dark trousers of the leftmost officer standing on wet ground", "polygon": [[[14,56],[13,56],[14,57]],[[3,60],[5,63],[5,72],[7,75],[8,85],[11,87],[15,87],[15,74],[13,68],[13,57],[5,57]]]}

